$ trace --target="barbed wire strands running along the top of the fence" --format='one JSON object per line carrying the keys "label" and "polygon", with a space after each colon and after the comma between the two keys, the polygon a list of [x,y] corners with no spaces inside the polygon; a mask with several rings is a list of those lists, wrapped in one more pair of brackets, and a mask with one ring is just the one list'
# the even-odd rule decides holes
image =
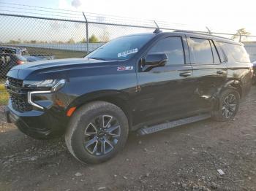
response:
{"label": "barbed wire strands running along the top of the fence", "polygon": [[[7,9],[1,9],[7,8]],[[18,10],[17,10],[18,9]],[[31,12],[27,11],[20,11],[20,9],[30,10]],[[99,24],[106,24],[106,25],[115,25],[118,24],[118,26],[135,26],[135,27],[144,27],[147,26],[148,28],[156,27],[154,20],[149,19],[137,19],[134,17],[124,17],[124,16],[118,16],[118,15],[103,15],[99,13],[94,12],[81,12],[81,11],[75,11],[70,9],[59,9],[59,8],[52,8],[52,7],[39,7],[39,6],[32,6],[27,4],[15,4],[15,3],[9,3],[9,2],[0,2],[0,12],[15,12],[17,14],[20,14],[22,16],[28,16],[28,15],[42,15],[45,17],[51,17],[51,18],[65,18],[64,20],[74,19],[83,21],[83,13],[86,15],[86,19],[89,21],[89,23],[99,23]],[[48,12],[49,14],[46,14]],[[50,14],[53,13],[53,14]],[[68,15],[68,19],[67,19]],[[74,16],[73,16],[74,15]],[[78,17],[75,17],[78,16]],[[70,19],[70,21],[72,21]],[[167,21],[163,20],[157,20],[157,24],[160,28],[166,29],[166,30],[185,30],[185,29],[191,29],[195,26],[184,24],[184,23],[169,23]],[[174,27],[176,26],[176,27]],[[180,27],[180,28],[179,28]],[[201,26],[201,28],[205,28]],[[195,31],[195,30],[188,30],[188,31]],[[197,32],[203,32],[207,33],[208,31],[198,31]],[[225,33],[225,32],[217,32],[217,31],[211,31],[211,34],[217,34],[217,35],[236,35],[232,33]],[[239,35],[237,35],[239,36]],[[255,35],[242,35],[242,36],[248,36],[248,37],[256,37]]]}

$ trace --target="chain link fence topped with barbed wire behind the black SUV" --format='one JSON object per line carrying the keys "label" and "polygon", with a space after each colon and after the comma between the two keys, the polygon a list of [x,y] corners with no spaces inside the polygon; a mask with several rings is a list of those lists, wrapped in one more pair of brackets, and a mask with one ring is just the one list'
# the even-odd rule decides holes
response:
{"label": "chain link fence topped with barbed wire behind the black SUV", "polygon": [[[1,79],[4,79],[7,72],[18,64],[59,58],[81,58],[118,36],[153,32],[157,28],[156,23],[163,31],[190,29],[189,26],[162,21],[134,20],[127,17],[69,10],[60,12],[60,9],[22,6],[22,11],[17,11],[20,9],[15,7],[13,14],[7,9],[8,6],[0,4],[0,8],[5,7],[0,9]],[[206,34],[209,32],[191,31]],[[227,38],[234,36],[234,34],[214,32],[211,34]],[[256,61],[256,36],[240,34],[235,37],[237,40],[249,41],[244,43],[248,47],[247,51],[252,61]]]}

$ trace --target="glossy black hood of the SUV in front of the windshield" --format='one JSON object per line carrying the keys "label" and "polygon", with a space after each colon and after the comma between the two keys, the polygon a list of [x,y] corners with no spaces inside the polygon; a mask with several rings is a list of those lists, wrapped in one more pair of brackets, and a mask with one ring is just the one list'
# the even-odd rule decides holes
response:
{"label": "glossy black hood of the SUV in front of the windshield", "polygon": [[118,61],[99,61],[89,58],[68,58],[58,60],[35,61],[13,67],[7,77],[17,79],[40,79],[40,78],[66,78],[69,71],[77,69],[103,69],[106,66],[115,66]]}

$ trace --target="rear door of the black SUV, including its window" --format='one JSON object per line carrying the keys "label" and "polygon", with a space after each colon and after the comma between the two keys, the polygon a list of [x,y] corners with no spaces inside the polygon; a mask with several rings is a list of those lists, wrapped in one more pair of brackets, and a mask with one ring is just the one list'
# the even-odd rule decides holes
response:
{"label": "rear door of the black SUV, including its window", "polygon": [[212,39],[189,36],[188,42],[195,79],[195,110],[208,111],[227,79],[226,60],[220,59],[222,52]]}

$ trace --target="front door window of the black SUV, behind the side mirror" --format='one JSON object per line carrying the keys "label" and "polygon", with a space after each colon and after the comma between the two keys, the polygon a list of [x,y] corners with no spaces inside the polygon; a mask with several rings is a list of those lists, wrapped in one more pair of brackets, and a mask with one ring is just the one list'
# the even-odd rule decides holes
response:
{"label": "front door window of the black SUV, behind the side mirror", "polygon": [[184,50],[181,40],[181,37],[160,39],[148,53],[165,52],[168,57],[168,66],[184,64]]}

